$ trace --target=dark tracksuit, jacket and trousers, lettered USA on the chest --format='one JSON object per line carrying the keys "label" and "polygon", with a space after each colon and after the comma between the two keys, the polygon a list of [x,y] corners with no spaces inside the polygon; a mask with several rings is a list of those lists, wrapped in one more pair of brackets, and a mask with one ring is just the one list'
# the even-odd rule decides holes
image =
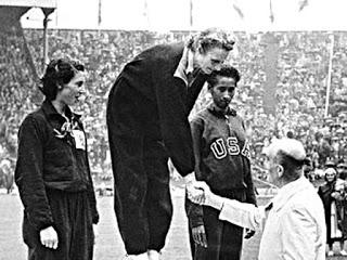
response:
{"label": "dark tracksuit, jacket and trousers, lettered USA on the chest", "polygon": [[[256,204],[249,145],[242,118],[234,109],[221,113],[210,104],[191,120],[195,176],[220,196]],[[185,205],[190,229],[204,225],[207,248],[196,246],[195,259],[240,259],[243,229],[218,219],[218,211]]]}

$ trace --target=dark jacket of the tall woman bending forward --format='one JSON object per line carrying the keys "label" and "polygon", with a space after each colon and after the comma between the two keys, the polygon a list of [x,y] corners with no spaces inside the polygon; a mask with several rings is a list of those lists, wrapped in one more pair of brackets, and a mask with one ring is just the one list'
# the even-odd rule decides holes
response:
{"label": "dark jacket of the tall woman bending forward", "polygon": [[194,170],[188,116],[206,77],[200,74],[190,88],[174,77],[183,49],[182,43],[155,46],[124,67],[110,92],[107,127],[110,135],[163,141],[174,166],[185,176]]}

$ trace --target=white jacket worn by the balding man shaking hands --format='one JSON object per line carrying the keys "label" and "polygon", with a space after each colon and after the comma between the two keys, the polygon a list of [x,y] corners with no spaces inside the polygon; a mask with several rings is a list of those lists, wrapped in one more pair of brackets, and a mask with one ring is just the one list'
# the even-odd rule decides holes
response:
{"label": "white jacket worn by the balding man shaking hands", "polygon": [[[312,184],[301,177],[280,188],[272,200],[259,248],[259,260],[323,260],[324,208]],[[224,199],[219,219],[258,230],[265,208]]]}

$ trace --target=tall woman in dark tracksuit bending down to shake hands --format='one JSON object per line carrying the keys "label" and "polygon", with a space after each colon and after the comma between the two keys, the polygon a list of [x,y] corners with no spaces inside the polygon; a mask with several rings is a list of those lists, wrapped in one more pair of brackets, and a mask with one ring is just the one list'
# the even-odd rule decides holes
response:
{"label": "tall woman in dark tracksuit bending down to shake hands", "polygon": [[193,172],[188,115],[206,75],[220,69],[233,44],[208,29],[185,46],[155,46],[125,66],[110,92],[115,211],[130,259],[159,257],[172,217],[168,157],[181,176]]}

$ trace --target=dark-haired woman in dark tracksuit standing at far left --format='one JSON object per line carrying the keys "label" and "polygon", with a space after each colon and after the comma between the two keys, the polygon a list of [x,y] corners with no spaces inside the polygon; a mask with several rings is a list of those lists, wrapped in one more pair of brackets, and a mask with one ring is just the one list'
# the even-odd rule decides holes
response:
{"label": "dark-haired woman in dark tracksuit standing at far left", "polygon": [[85,92],[83,70],[73,61],[51,61],[42,78],[46,100],[20,128],[15,182],[29,260],[92,259],[99,214],[85,130],[69,108]]}

